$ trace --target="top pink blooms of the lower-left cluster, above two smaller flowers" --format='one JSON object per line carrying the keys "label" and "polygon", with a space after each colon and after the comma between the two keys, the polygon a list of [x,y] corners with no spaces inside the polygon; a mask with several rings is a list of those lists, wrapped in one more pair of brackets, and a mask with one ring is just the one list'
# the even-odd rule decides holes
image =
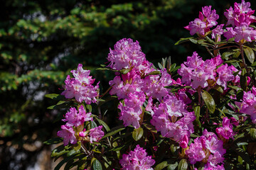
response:
{"label": "top pink blooms of the lower-left cluster, above two smaller flowers", "polygon": [[65,114],[65,119],[63,119],[63,121],[67,122],[67,126],[78,127],[85,123],[85,121],[92,120],[92,117],[90,117],[92,113],[86,113],[83,106],[80,106],[78,110],[79,112],[75,108],[70,108],[70,111]]}

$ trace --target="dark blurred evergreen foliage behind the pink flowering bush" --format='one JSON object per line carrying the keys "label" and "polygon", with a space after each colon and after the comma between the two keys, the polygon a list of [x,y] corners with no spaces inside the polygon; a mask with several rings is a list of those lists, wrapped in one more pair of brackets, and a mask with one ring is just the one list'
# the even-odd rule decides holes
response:
{"label": "dark blurred evergreen foliage behind the pink flowering bush", "polygon": [[[174,45],[189,31],[202,6],[223,12],[234,1],[215,0],[0,0],[0,169],[54,169],[51,148],[43,142],[56,136],[66,110],[45,94],[60,94],[65,77],[82,63],[101,89],[112,72],[97,71],[110,47],[122,38],[138,40],[147,60],[181,64],[191,43]],[[240,2],[240,1],[238,1]],[[251,2],[252,3],[252,2]],[[252,3],[255,9],[255,2]],[[195,48],[196,47],[196,48]],[[199,55],[207,55],[198,49]]]}

